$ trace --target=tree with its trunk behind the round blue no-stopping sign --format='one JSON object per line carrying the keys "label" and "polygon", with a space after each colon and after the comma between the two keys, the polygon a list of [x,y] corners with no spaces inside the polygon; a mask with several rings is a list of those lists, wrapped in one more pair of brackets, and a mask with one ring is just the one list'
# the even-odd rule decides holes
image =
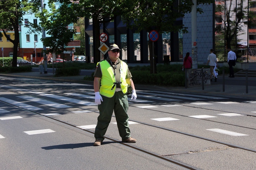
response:
{"label": "tree with its trunk behind the round blue no-stopping sign", "polygon": [[[204,3],[210,2],[205,0]],[[203,3],[199,1],[198,3]],[[177,18],[183,18],[185,13],[191,12],[191,0],[181,1],[182,5],[178,4],[176,0],[132,0],[124,8],[124,21],[130,28],[136,29],[136,32],[146,30],[157,31],[159,34],[163,32],[178,32],[186,31],[183,25],[176,24]],[[199,12],[200,9],[198,9]],[[153,62],[153,42],[149,43],[150,48],[150,66],[151,73],[156,73],[156,61]],[[155,66],[153,66],[153,63]]]}

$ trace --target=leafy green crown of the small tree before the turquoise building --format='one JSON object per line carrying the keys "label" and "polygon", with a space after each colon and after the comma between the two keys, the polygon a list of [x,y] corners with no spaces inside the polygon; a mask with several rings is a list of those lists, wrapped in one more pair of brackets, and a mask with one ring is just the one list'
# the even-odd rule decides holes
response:
{"label": "leafy green crown of the small tree before the turquoise building", "polygon": [[44,9],[37,10],[34,8],[35,17],[40,18],[38,25],[29,23],[31,27],[30,32],[42,32],[42,28],[47,32],[47,37],[41,38],[43,45],[49,47],[45,53],[61,54],[67,51],[66,47],[70,41],[73,40],[73,35],[76,33],[75,27],[69,28],[69,24],[73,24],[77,21],[76,13],[63,2],[58,9],[55,9],[55,3],[51,0],[48,1],[49,11]]}

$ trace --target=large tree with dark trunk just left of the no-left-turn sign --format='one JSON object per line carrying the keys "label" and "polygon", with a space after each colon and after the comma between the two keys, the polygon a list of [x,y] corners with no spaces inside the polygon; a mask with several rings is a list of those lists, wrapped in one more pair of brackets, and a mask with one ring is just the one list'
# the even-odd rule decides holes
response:
{"label": "large tree with dark trunk just left of the no-left-turn sign", "polygon": [[[54,21],[50,22],[48,21],[49,27],[46,28],[48,31],[47,34],[50,33],[50,35],[53,36],[53,41],[56,37],[53,30],[55,30],[55,20],[57,22],[60,22],[59,24],[62,24],[64,22],[65,24],[70,23],[77,23],[77,20],[79,18],[86,17],[88,19],[93,19],[93,26],[94,26],[94,37],[100,36],[100,24],[105,24],[107,22],[110,22],[113,20],[113,18],[117,15],[120,15],[119,9],[120,4],[122,4],[122,0],[117,1],[105,1],[105,0],[49,0],[50,3],[56,3],[60,2],[61,7],[56,10],[56,13],[54,15]],[[40,18],[45,18],[43,16],[40,16]],[[48,17],[48,20],[52,20],[52,17]],[[46,22],[46,20],[45,20]],[[72,31],[71,31],[72,32]],[[59,33],[59,35],[62,35],[63,33]],[[75,33],[75,30],[73,30],[73,33]],[[49,47],[53,47],[53,45],[48,44]],[[100,40],[99,38],[94,38],[94,61],[97,63],[100,61],[100,51],[97,50],[100,46]]]}

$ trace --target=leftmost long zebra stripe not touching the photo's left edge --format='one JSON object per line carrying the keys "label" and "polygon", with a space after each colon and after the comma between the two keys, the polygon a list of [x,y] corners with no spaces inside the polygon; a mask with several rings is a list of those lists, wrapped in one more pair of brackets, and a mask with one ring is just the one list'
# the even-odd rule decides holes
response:
{"label": "leftmost long zebra stripe not touching the photo's left edge", "polygon": [[22,98],[22,99],[25,99],[25,100],[30,100],[32,102],[37,102],[37,103],[44,104],[44,105],[47,105],[47,106],[55,107],[55,108],[72,107],[72,106],[68,106],[68,105],[65,105],[65,104],[60,104],[60,103],[56,103],[56,102],[52,102],[52,101],[48,101],[48,100],[44,100],[44,99],[31,97],[31,96],[18,96],[18,97]]}

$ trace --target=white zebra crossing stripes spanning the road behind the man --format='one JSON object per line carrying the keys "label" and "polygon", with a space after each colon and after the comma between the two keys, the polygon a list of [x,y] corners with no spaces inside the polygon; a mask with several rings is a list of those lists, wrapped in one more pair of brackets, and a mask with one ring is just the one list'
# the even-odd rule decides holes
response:
{"label": "white zebra crossing stripes spanning the road behind the man", "polygon": [[[13,88],[12,89],[17,89],[18,88]],[[55,94],[47,94],[47,93],[43,93],[43,92],[36,92],[36,91],[29,91],[32,94],[37,94],[39,96],[43,96],[43,97],[47,97],[50,100],[55,99],[58,101],[65,101],[65,102],[70,102],[70,103],[75,103],[75,104],[79,104],[79,105],[85,105],[85,106],[96,106],[97,104],[95,104],[94,102],[94,92],[86,92],[86,94],[83,93],[75,93],[75,92],[70,92],[70,93],[64,93],[64,95],[68,96],[62,96],[62,95],[55,95]],[[183,100],[191,100],[194,101],[193,103],[190,104],[194,104],[194,105],[213,105],[215,102],[199,102],[202,100],[207,100],[207,99],[228,99],[228,98],[223,98],[223,97],[212,97],[212,96],[203,96],[203,95],[191,95],[191,94],[181,94],[181,93],[173,93],[173,92],[165,92],[163,94],[163,92],[161,91],[141,91],[138,90],[137,92],[138,98],[135,101],[131,101],[130,100],[130,96],[128,96],[128,100],[130,103],[134,103],[134,104],[138,104],[138,103],[152,103],[152,102],[156,102],[157,101],[165,101],[165,102],[172,102],[172,101],[183,101]],[[30,101],[30,102],[36,102],[39,103],[41,105],[46,105],[46,106],[50,106],[50,107],[54,107],[54,108],[71,108],[72,106],[70,105],[66,105],[66,104],[61,104],[59,102],[54,102],[54,101],[50,101],[47,99],[41,99],[39,97],[32,97],[32,96],[28,96],[28,95],[24,95],[24,96],[17,96],[20,99],[23,99],[23,101]],[[81,97],[83,98],[83,100],[81,99],[75,99],[73,97]],[[147,99],[147,100],[143,100],[143,99]],[[13,99],[8,99],[5,97],[0,97],[0,101],[6,102],[6,103],[10,103],[12,105],[15,105],[17,107],[20,108],[24,108],[30,111],[36,111],[36,110],[41,110],[42,108],[40,107],[35,107],[33,105],[29,105],[26,104],[24,102],[20,102],[20,101],[16,101]],[[197,102],[198,101],[198,102]],[[247,101],[248,103],[254,103],[254,101]],[[234,103],[238,103],[238,102],[217,102],[216,103],[222,103],[222,104],[234,104]],[[166,104],[166,105],[161,105],[161,106],[166,106],[166,107],[171,107],[171,106],[179,106],[179,104]],[[145,106],[138,106],[141,108],[152,108],[152,107],[158,107],[158,106],[150,106],[150,105],[145,105]],[[6,111],[5,109],[0,107],[0,113],[6,113],[9,111]]]}

